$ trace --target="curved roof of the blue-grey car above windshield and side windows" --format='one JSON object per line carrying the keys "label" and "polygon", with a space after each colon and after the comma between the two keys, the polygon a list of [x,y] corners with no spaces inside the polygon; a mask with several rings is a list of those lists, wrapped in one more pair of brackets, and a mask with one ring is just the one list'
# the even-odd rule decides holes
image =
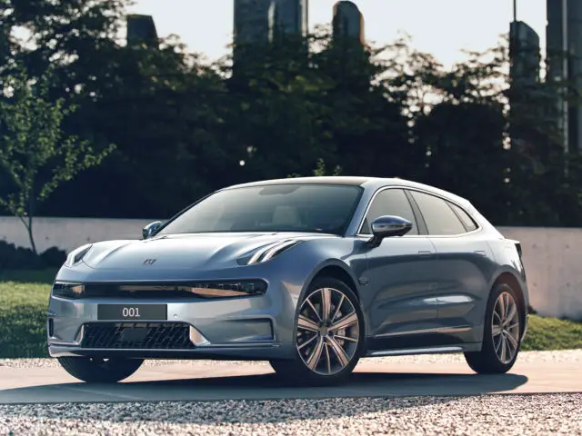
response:
{"label": "curved roof of the blue-grey car above windshield and side windows", "polygon": [[416,188],[429,193],[436,193],[437,195],[446,197],[457,203],[469,205],[467,199],[460,197],[454,193],[449,193],[435,186],[430,186],[425,183],[417,183],[399,177],[365,177],[365,176],[348,176],[348,175],[331,175],[331,176],[313,176],[313,177],[289,177],[286,179],[272,179],[262,180],[258,182],[241,183],[224,188],[236,189],[251,186],[268,186],[271,184],[344,184],[351,186],[362,186],[365,189],[376,191],[376,189],[384,186],[402,186],[408,188]]}

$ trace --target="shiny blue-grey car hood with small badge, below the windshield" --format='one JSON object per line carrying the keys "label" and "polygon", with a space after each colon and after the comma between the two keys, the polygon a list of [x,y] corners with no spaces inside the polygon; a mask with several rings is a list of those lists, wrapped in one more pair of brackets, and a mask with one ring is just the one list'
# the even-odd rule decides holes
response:
{"label": "shiny blue-grey car hood with small badge, below the windshield", "polygon": [[216,269],[271,243],[329,238],[317,233],[196,233],[143,241],[94,243],[83,262],[94,269]]}

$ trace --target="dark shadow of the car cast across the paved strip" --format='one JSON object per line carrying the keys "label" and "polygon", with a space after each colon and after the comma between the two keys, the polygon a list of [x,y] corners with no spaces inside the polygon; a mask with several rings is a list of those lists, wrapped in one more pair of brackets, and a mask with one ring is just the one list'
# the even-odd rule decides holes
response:
{"label": "dark shadow of the car cast across the paved strip", "polygon": [[[296,380],[281,379],[274,373],[266,373],[163,381],[129,379],[115,384],[46,384],[0,391],[0,403],[47,403],[48,406],[71,402],[386,400],[412,396],[426,397],[426,401],[432,404],[435,398],[449,401],[447,399],[456,397],[511,392],[526,382],[526,376],[511,373],[354,372],[339,385],[302,387]],[[341,416],[350,413],[344,410],[339,412]]]}

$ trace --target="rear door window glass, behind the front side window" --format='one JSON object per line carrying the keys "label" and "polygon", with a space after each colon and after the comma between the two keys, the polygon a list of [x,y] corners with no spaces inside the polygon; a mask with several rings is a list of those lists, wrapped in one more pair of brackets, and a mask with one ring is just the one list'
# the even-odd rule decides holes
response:
{"label": "rear door window glass, behind the front side window", "polygon": [[465,226],[457,218],[445,200],[427,193],[411,191],[412,197],[420,208],[425,219],[428,234],[460,234],[466,233]]}

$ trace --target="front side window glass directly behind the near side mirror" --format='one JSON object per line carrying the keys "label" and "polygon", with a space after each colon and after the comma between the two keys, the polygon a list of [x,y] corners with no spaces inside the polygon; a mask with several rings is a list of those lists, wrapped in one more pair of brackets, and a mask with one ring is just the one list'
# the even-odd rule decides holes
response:
{"label": "front side window glass directly behind the near side mirror", "polygon": [[412,206],[403,190],[386,189],[378,193],[367,211],[360,233],[371,234],[370,224],[382,215],[396,215],[405,218],[412,223],[412,229],[406,234],[418,234],[415,214],[412,212]]}

